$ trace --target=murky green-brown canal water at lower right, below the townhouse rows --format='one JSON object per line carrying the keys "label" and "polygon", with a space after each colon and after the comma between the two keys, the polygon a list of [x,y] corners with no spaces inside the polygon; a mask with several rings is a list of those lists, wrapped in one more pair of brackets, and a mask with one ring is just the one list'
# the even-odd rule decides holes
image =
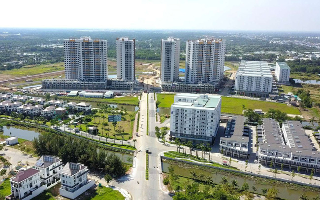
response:
{"label": "murky green-brown canal water at lower right, below the townhouse rows", "polygon": [[190,172],[191,171],[195,171],[197,174],[202,172],[204,175],[211,175],[211,177],[212,177],[211,180],[215,184],[221,184],[220,181],[221,181],[221,178],[223,176],[225,176],[227,178],[228,182],[231,182],[232,179],[237,180],[239,187],[241,187],[243,185],[243,183],[246,182],[246,183],[249,184],[249,187],[250,187],[249,191],[254,192],[251,187],[255,186],[256,190],[257,190],[257,193],[259,193],[259,194],[262,194],[262,189],[264,189],[264,188],[265,189],[269,189],[269,188],[272,188],[272,187],[276,187],[279,190],[278,196],[280,198],[286,199],[286,200],[298,200],[299,197],[303,193],[305,193],[309,197],[309,199],[319,195],[319,193],[317,193],[317,192],[313,192],[313,191],[305,192],[305,191],[302,191],[302,190],[290,189],[290,188],[288,188],[286,186],[282,186],[282,185],[279,185],[279,184],[277,184],[276,186],[272,186],[270,184],[267,184],[267,185],[259,184],[256,181],[254,181],[253,179],[247,178],[247,177],[239,177],[239,176],[235,176],[235,175],[231,175],[231,174],[226,176],[226,175],[219,174],[219,173],[210,173],[208,171],[205,171],[205,170],[202,170],[202,169],[198,169],[198,168],[182,168],[182,167],[179,167],[178,165],[169,164],[166,161],[162,161],[161,164],[162,164],[162,171],[169,172],[168,171],[168,167],[172,166],[172,167],[174,167],[175,172],[177,173],[177,175],[182,175],[182,176],[185,176],[185,177],[190,177]]}

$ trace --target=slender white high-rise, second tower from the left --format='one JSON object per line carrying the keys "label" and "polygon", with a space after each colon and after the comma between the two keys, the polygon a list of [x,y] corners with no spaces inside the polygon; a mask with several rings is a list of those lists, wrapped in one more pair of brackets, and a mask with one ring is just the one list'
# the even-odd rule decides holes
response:
{"label": "slender white high-rise, second tower from the left", "polygon": [[117,79],[135,80],[135,39],[117,38]]}

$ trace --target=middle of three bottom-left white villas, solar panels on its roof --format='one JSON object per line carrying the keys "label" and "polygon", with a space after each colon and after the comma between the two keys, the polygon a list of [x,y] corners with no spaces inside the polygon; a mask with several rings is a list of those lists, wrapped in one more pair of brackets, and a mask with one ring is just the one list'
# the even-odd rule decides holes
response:
{"label": "middle of three bottom-left white villas, solar panels on its roof", "polygon": [[56,156],[41,156],[34,168],[41,171],[40,181],[49,185],[48,188],[50,188],[60,182],[59,173],[63,165],[62,160]]}

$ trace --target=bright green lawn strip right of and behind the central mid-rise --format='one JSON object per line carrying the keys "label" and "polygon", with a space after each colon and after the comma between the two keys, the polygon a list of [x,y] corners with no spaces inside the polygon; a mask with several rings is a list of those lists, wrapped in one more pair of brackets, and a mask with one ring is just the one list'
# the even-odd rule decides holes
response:
{"label": "bright green lawn strip right of and behind the central mid-rise", "polygon": [[284,103],[266,102],[260,100],[246,100],[230,97],[222,97],[221,112],[231,114],[242,114],[242,104],[245,105],[245,109],[262,109],[263,112],[267,112],[270,108],[278,109],[288,114],[300,115],[300,111],[296,107],[290,107]]}

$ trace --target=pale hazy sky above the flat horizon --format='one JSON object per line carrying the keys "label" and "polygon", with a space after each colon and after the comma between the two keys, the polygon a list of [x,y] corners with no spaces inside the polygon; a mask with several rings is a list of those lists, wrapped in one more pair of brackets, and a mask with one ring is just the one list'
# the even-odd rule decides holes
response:
{"label": "pale hazy sky above the flat horizon", "polygon": [[320,0],[4,0],[2,28],[320,32]]}

